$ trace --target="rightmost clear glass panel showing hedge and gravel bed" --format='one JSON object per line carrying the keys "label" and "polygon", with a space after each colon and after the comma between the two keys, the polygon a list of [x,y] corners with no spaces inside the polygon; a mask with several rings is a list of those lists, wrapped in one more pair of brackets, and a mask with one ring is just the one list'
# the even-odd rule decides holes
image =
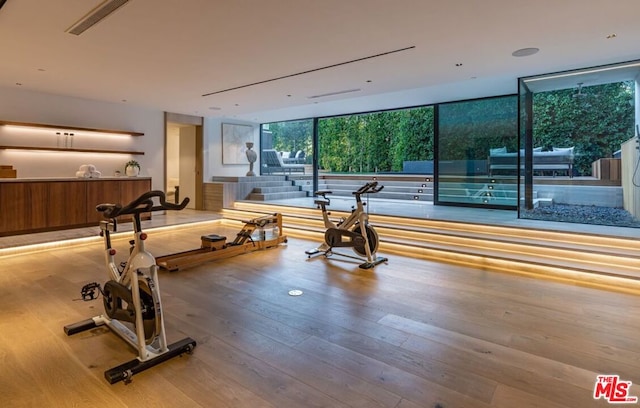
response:
{"label": "rightmost clear glass panel showing hedge and gravel bed", "polygon": [[[530,94],[531,177],[521,218],[639,227],[634,202],[638,160],[634,78],[640,64],[619,64],[524,78]],[[626,180],[626,183],[625,183]]]}

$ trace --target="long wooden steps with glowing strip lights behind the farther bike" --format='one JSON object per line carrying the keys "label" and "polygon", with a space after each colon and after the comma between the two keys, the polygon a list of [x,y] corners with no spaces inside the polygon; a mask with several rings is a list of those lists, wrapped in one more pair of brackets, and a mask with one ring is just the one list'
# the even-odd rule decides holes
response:
{"label": "long wooden steps with glowing strip lights behind the farther bike", "polygon": [[[223,216],[246,218],[239,214],[247,211],[280,212],[288,236],[323,240],[325,227],[317,209],[239,202]],[[348,213],[332,211],[332,218],[342,216]],[[384,254],[410,253],[439,262],[640,291],[640,243],[635,239],[377,214],[369,218]]]}

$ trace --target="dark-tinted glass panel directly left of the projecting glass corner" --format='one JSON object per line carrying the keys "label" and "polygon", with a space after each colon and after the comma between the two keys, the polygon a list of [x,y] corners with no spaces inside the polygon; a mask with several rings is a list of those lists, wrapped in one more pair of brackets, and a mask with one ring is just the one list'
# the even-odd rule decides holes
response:
{"label": "dark-tinted glass panel directly left of the projecting glass corner", "polygon": [[436,203],[515,208],[516,96],[438,105]]}

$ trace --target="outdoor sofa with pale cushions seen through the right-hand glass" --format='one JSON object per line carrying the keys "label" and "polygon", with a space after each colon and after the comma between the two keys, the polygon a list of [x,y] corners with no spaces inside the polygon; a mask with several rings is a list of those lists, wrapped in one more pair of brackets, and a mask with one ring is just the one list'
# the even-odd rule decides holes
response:
{"label": "outdoor sofa with pale cushions seen through the right-hand glass", "polygon": [[[518,153],[507,153],[506,148],[490,149],[489,154],[489,175],[494,175],[500,171],[515,171],[518,166]],[[524,152],[520,167],[524,168]],[[556,175],[557,171],[567,172],[569,177],[573,177],[573,147],[557,148],[551,151],[541,151],[534,149],[533,171],[552,171]]]}

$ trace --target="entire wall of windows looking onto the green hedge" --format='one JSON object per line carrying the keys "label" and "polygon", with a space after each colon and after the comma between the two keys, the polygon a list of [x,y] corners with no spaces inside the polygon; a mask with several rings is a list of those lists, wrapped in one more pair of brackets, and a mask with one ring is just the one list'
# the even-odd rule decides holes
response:
{"label": "entire wall of windows looking onto the green hedge", "polygon": [[411,199],[436,205],[640,227],[638,78],[632,62],[521,78],[518,95],[268,123],[261,150],[309,179],[427,175]]}

